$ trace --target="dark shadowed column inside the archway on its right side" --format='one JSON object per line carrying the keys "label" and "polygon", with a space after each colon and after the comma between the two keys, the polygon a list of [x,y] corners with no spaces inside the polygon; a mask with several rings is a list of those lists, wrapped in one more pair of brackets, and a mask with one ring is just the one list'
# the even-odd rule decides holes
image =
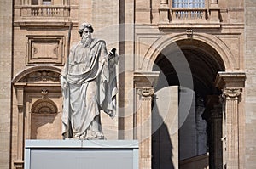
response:
{"label": "dark shadowed column inside the archway on its right side", "polygon": [[212,154],[213,165],[216,169],[223,168],[223,143],[222,143],[222,105],[215,104],[211,110],[212,121]]}

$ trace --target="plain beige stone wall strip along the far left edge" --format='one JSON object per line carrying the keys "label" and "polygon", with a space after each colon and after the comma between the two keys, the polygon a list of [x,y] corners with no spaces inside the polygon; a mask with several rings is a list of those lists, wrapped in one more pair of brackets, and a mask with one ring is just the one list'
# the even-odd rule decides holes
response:
{"label": "plain beige stone wall strip along the far left edge", "polygon": [[12,1],[0,5],[0,168],[9,169],[12,67]]}

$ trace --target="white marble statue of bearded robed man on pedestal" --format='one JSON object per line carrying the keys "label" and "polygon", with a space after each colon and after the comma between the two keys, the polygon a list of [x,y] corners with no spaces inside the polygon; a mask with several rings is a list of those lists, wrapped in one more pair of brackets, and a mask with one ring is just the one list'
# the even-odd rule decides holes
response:
{"label": "white marble statue of bearded robed man on pedestal", "polygon": [[113,117],[116,110],[118,56],[106,42],[92,38],[93,27],[79,27],[81,40],[70,48],[61,72],[64,138],[105,139],[100,111]]}

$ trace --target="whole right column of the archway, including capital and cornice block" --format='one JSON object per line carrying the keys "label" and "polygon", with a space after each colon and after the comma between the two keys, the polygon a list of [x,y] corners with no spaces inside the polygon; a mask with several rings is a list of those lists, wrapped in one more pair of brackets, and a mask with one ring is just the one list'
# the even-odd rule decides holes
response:
{"label": "whole right column of the archway, including capital and cornice block", "polygon": [[244,72],[218,72],[216,87],[222,89],[224,101],[224,121],[222,138],[224,144],[224,168],[244,168]]}

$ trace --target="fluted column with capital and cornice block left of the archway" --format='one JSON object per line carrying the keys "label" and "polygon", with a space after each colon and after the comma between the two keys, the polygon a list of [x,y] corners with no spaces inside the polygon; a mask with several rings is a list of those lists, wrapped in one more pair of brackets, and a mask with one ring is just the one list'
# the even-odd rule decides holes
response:
{"label": "fluted column with capital and cornice block left of the archway", "polygon": [[139,140],[140,169],[152,168],[152,99],[159,72],[135,72],[134,138]]}

